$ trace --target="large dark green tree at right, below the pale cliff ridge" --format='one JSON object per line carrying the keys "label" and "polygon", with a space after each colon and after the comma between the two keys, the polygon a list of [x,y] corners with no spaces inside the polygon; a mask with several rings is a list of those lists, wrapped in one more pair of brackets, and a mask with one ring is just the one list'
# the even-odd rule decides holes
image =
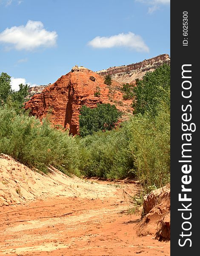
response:
{"label": "large dark green tree at right, below the pale cliff ridge", "polygon": [[143,80],[137,81],[134,93],[134,113],[148,112],[151,116],[156,116],[157,106],[161,102],[170,106],[170,66],[164,64],[153,72],[147,72]]}

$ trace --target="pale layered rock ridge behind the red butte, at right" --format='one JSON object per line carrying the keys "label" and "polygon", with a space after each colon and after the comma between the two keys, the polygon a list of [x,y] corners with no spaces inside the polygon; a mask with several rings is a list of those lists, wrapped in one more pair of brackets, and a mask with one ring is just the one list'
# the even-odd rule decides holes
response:
{"label": "pale layered rock ridge behind the red butte, at right", "polygon": [[120,67],[109,67],[106,70],[97,71],[101,76],[110,75],[112,79],[119,83],[135,84],[135,79],[142,79],[148,71],[153,71],[164,63],[170,64],[168,54],[162,54],[135,64]]}

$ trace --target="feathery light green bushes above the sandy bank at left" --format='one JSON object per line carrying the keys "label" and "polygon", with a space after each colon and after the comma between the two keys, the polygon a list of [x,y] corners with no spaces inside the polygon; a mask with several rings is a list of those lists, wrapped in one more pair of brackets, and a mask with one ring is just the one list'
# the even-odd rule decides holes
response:
{"label": "feathery light green bushes above the sandy bank at left", "polygon": [[65,173],[77,171],[77,143],[68,132],[52,128],[48,119],[41,124],[34,116],[17,114],[7,105],[0,108],[0,153],[43,172],[49,165]]}

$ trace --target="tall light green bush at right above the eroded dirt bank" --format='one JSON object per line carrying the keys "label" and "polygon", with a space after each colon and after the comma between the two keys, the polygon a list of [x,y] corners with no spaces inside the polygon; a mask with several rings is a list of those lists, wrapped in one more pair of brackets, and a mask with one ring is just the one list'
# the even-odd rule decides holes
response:
{"label": "tall light green bush at right above the eroded dirt bank", "polygon": [[170,109],[166,103],[157,107],[157,116],[134,116],[128,123],[132,136],[129,150],[134,162],[131,171],[145,192],[170,182]]}

